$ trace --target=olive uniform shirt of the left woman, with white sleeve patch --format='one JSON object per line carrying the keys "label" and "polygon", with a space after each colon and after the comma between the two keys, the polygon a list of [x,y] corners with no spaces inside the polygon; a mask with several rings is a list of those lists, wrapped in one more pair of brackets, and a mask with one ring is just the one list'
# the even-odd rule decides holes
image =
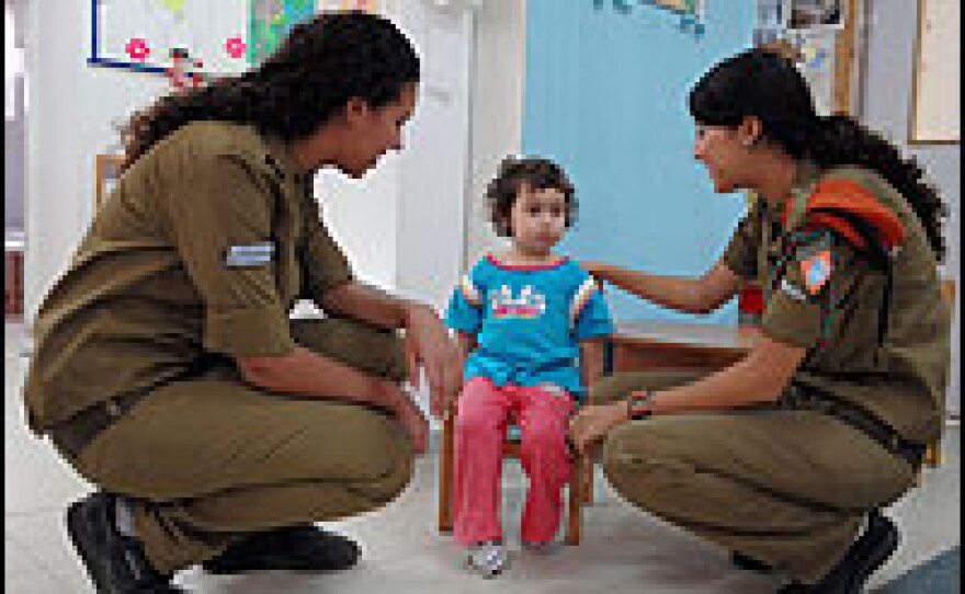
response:
{"label": "olive uniform shirt of the left woman, with white sleeve patch", "polygon": [[282,142],[189,124],[118,180],[42,304],[31,425],[169,381],[203,356],[290,353],[295,301],[351,278]]}

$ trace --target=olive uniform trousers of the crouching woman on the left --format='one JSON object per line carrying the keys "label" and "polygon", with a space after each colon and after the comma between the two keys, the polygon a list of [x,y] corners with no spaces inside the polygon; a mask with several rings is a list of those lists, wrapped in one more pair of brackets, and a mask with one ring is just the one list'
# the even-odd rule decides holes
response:
{"label": "olive uniform trousers of the crouching woman on the left", "polygon": [[[293,321],[300,345],[401,381],[397,335],[351,320]],[[413,450],[386,414],[246,384],[234,365],[156,389],[87,445],[63,453],[98,487],[130,498],[151,563],[173,572],[246,535],[344,518],[394,500]]]}

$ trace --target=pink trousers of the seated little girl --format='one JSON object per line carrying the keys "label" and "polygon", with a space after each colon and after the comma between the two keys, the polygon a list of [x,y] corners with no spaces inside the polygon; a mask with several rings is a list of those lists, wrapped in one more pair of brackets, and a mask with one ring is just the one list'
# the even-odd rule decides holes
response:
{"label": "pink trousers of the seated little girl", "polygon": [[563,514],[563,487],[569,480],[566,431],[574,402],[563,390],[498,387],[473,378],[463,388],[456,413],[454,536],[462,545],[502,540],[502,443],[507,424],[522,430],[520,458],[530,479],[521,536],[548,542]]}

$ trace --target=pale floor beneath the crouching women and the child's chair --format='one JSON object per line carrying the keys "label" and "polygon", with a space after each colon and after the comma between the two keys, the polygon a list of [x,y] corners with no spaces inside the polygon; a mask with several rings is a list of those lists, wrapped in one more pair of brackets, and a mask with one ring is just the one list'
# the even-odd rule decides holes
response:
{"label": "pale floor beneath the crouching women and the child's chair", "polygon": [[[66,505],[90,486],[24,429],[20,387],[25,359],[22,330],[5,339],[5,579],[4,592],[73,594],[93,592],[66,539]],[[873,579],[872,590],[934,555],[961,544],[960,431],[949,432],[945,462],[928,470],[924,484],[893,507],[902,528],[898,553]],[[522,478],[507,472],[506,517],[518,528]],[[598,477],[597,502],[583,518],[583,542],[545,556],[514,557],[503,576],[488,581],[467,574],[451,538],[435,532],[435,459],[420,460],[409,490],[378,513],[333,525],[357,538],[363,561],[349,572],[321,576],[284,573],[214,578],[185,572],[179,581],[202,593],[425,592],[513,593],[731,593],[772,592],[774,582],[733,570],[726,555],[680,530],[636,513]]]}

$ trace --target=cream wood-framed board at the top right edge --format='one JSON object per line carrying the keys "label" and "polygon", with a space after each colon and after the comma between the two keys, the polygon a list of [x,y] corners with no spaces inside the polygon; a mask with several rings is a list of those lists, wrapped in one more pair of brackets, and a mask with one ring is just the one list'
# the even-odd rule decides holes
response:
{"label": "cream wood-framed board at the top right edge", "polygon": [[962,141],[962,0],[919,0],[910,144]]}

